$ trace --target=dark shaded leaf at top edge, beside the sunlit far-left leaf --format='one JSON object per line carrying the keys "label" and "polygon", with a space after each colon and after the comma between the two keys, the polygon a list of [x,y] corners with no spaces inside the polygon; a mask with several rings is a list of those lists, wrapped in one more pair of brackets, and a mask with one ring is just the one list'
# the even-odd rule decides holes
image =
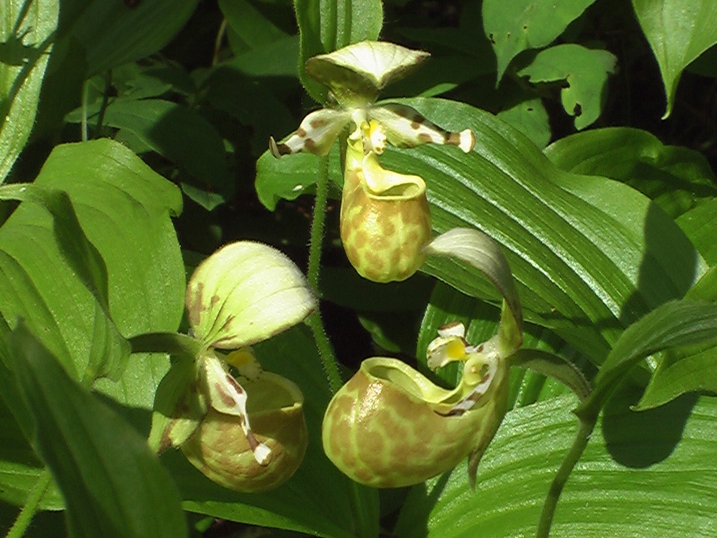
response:
{"label": "dark shaded leaf at top edge, beside the sunlit far-left leaf", "polygon": [[63,0],[59,37],[84,49],[85,76],[160,50],[184,27],[199,0]]}

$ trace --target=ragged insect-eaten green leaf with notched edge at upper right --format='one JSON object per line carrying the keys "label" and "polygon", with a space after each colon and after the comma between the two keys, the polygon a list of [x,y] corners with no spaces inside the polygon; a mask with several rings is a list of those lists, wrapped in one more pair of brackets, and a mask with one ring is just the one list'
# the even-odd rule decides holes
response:
{"label": "ragged insect-eaten green leaf with notched edge at upper right", "polygon": [[563,108],[574,116],[575,128],[590,126],[600,116],[608,75],[615,73],[618,58],[607,50],[567,43],[546,48],[531,65],[518,72],[535,82],[566,81],[560,91]]}

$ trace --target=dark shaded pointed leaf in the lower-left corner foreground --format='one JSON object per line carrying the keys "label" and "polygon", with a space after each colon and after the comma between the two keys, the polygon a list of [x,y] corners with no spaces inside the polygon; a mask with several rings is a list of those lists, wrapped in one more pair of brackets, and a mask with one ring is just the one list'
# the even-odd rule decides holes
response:
{"label": "dark shaded pointed leaf in the lower-left corner foreground", "polygon": [[186,536],[177,489],[145,439],[67,375],[21,325],[14,369],[34,444],[62,490],[73,536]]}

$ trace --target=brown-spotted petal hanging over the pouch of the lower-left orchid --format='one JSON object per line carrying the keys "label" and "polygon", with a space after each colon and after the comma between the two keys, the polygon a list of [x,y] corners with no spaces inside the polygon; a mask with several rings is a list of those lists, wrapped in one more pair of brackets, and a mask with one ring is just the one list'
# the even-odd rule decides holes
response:
{"label": "brown-spotted petal hanging over the pouch of the lower-left orchid", "polygon": [[206,383],[207,394],[215,411],[239,417],[239,424],[251,447],[256,462],[260,465],[269,464],[272,449],[256,440],[249,415],[246,412],[246,391],[234,377],[224,369],[216,357],[203,358],[203,381]]}

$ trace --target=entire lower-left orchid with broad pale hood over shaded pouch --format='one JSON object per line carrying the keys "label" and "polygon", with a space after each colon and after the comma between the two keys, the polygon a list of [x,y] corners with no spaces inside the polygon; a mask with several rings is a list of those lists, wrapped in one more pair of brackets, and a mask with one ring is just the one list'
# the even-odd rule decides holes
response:
{"label": "entire lower-left orchid with broad pale hood over shaded pouch", "polygon": [[151,445],[181,447],[195,467],[234,490],[263,491],[287,480],[307,447],[303,396],[288,379],[263,372],[247,346],[315,308],[304,275],[272,247],[240,241],[204,260],[186,289],[198,351],[162,380]]}

